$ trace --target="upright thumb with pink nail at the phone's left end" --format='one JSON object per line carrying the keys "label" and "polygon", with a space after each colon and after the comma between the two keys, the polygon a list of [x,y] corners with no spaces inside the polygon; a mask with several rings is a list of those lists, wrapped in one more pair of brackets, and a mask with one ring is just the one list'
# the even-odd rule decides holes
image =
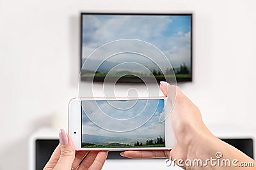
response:
{"label": "upright thumb with pink nail at the phone's left end", "polygon": [[58,160],[58,163],[56,164],[55,169],[60,170],[66,170],[71,169],[71,166],[75,159],[75,149],[74,149],[74,143],[70,136],[66,134],[64,129],[61,129],[59,132],[60,136],[60,159]]}

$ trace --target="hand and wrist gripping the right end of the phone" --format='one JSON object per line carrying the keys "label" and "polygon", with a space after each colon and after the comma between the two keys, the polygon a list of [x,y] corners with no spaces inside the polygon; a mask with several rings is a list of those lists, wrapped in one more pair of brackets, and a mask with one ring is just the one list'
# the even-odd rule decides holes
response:
{"label": "hand and wrist gripping the right end of the phone", "polygon": [[[236,165],[221,167],[212,166],[210,162],[207,162],[208,159],[216,159],[216,153],[221,152],[223,157],[220,160],[236,159],[239,162],[254,162],[256,164],[253,159],[244,153],[216,138],[204,125],[198,108],[184,95],[179,87],[161,81],[160,88],[172,103],[175,102],[171,113],[172,128],[177,139],[175,146],[171,151],[125,151],[121,153],[122,156],[134,159],[166,157],[173,161],[182,160],[182,164],[175,163],[178,163],[177,165],[184,169],[241,169]],[[176,97],[173,97],[175,93]],[[173,101],[174,98],[175,101]],[[204,166],[186,166],[185,160],[193,162],[198,159],[202,160]],[[253,167],[244,167],[243,169],[253,169]]]}

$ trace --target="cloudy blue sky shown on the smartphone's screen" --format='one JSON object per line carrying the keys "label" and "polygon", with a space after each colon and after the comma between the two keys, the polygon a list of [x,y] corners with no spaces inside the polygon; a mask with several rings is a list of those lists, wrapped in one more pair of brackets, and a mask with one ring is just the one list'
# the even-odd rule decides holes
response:
{"label": "cloudy blue sky shown on the smartphone's screen", "polygon": [[[164,136],[164,122],[159,123],[159,117],[164,111],[164,100],[134,100],[134,101],[83,101],[82,115],[83,134],[120,137],[152,137]],[[104,113],[102,113],[104,112]],[[108,115],[108,116],[106,116]],[[93,122],[88,119],[90,117]],[[148,120],[149,119],[149,120]],[[99,125],[99,126],[98,126]],[[136,127],[140,128],[135,129]],[[103,127],[103,128],[102,128]],[[129,132],[111,132],[109,129],[127,130]]]}

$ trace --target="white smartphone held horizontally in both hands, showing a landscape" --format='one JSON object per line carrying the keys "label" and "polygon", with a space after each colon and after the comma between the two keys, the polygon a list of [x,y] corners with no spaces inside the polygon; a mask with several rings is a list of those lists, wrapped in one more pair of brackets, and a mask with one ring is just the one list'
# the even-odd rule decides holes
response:
{"label": "white smartphone held horizontally in both hands, showing a landscape", "polygon": [[170,107],[166,97],[74,98],[68,131],[76,150],[170,150]]}

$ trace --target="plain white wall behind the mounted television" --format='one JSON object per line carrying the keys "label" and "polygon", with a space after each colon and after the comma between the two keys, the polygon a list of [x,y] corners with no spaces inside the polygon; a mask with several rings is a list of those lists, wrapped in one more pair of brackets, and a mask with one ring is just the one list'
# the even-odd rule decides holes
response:
{"label": "plain white wall behind the mounted television", "polygon": [[28,168],[28,138],[40,127],[67,128],[67,104],[77,96],[79,12],[86,10],[193,11],[194,77],[180,87],[211,129],[256,129],[255,6],[253,0],[0,0],[0,169]]}

